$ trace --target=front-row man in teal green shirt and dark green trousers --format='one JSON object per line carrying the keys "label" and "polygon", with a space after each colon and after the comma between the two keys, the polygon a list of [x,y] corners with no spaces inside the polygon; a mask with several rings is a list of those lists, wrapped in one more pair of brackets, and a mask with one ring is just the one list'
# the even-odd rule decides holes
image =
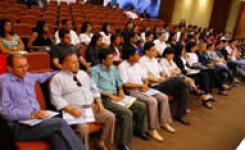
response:
{"label": "front-row man in teal green shirt and dark green trousers", "polygon": [[120,122],[118,148],[127,150],[132,142],[133,116],[135,117],[134,133],[149,140],[145,134],[146,108],[143,103],[138,101],[134,102],[129,109],[117,103],[124,99],[125,94],[118,71],[113,66],[113,51],[110,48],[102,49],[99,52],[99,59],[101,64],[91,69],[91,76],[101,90],[104,106],[114,112]]}

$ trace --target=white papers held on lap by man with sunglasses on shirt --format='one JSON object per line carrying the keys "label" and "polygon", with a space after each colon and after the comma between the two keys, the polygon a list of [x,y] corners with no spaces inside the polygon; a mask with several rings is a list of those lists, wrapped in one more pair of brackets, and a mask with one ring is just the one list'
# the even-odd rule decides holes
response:
{"label": "white papers held on lap by man with sunglasses on shirt", "polygon": [[63,119],[65,119],[69,125],[95,122],[92,108],[82,108],[80,111],[82,112],[82,115],[79,118],[75,118],[71,114],[63,111]]}

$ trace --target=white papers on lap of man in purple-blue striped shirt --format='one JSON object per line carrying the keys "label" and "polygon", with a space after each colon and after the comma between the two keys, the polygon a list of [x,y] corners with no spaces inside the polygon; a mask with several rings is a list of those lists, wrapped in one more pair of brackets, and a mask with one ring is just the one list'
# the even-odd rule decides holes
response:
{"label": "white papers on lap of man in purple-blue striped shirt", "polygon": [[[48,118],[53,118],[59,114],[58,112],[51,111],[51,110],[45,110],[45,112],[48,113]],[[19,123],[32,127],[43,122],[46,119],[27,119],[27,120],[21,120],[19,121]]]}

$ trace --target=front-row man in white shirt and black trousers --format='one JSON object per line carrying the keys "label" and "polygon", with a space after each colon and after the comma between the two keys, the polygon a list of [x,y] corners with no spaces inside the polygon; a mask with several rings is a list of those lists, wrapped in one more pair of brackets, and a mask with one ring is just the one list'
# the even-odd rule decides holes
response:
{"label": "front-row man in white shirt and black trousers", "polygon": [[156,47],[153,42],[148,42],[144,45],[145,55],[140,59],[140,65],[146,70],[147,78],[151,86],[163,93],[171,95],[174,100],[178,101],[178,108],[174,118],[189,125],[185,114],[187,111],[188,87],[185,82],[179,77],[167,78],[162,67],[158,63],[156,56]]}

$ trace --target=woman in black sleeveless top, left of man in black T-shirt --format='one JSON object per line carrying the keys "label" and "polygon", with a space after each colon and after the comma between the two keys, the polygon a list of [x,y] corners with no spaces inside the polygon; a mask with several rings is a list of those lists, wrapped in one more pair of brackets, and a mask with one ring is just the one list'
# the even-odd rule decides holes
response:
{"label": "woman in black sleeveless top, left of man in black T-shirt", "polygon": [[49,25],[45,20],[38,20],[28,43],[32,50],[50,50],[54,41],[50,35]]}

